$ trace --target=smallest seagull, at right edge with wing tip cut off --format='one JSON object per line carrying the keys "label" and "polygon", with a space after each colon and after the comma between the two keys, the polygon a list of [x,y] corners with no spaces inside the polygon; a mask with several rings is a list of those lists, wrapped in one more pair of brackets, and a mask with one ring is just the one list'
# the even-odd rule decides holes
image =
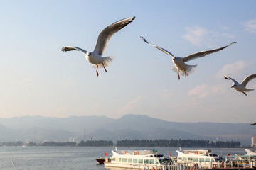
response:
{"label": "smallest seagull, at right edge with wing tip cut off", "polygon": [[231,77],[227,77],[224,75],[224,78],[233,81],[234,84],[231,86],[231,88],[234,88],[236,91],[242,92],[243,94],[245,94],[245,96],[247,96],[247,94],[245,93],[246,91],[254,91],[254,89],[247,89],[245,86],[250,80],[256,78],[256,74],[251,74],[245,77],[241,84],[239,84],[238,81],[235,81]]}

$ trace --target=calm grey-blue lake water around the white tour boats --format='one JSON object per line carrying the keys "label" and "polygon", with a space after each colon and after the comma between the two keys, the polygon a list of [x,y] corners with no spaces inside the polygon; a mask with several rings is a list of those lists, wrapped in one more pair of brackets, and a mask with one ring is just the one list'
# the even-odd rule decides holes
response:
{"label": "calm grey-blue lake water around the white tour boats", "polygon": [[[97,165],[96,158],[110,157],[114,147],[0,147],[0,169],[6,170],[104,170],[104,165]],[[174,157],[178,147],[118,147],[118,149],[156,149],[159,154]],[[206,148],[182,148],[206,149]],[[242,148],[207,148],[215,154],[226,157],[229,153],[245,154]]]}

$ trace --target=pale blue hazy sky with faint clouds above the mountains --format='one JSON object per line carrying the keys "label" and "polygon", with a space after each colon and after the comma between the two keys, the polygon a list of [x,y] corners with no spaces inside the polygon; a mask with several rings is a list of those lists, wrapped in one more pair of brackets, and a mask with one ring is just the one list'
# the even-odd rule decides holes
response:
{"label": "pale blue hazy sky with faint clouds above the mountains", "polygon": [[[1,118],[43,115],[149,115],[178,122],[256,121],[256,91],[231,89],[256,73],[256,1],[1,1]],[[105,56],[115,59],[97,77],[80,52],[92,51],[97,35],[122,18],[133,23],[114,34]],[[143,42],[184,57],[225,50],[192,60],[181,77],[171,57]],[[256,79],[247,84],[256,88]]]}

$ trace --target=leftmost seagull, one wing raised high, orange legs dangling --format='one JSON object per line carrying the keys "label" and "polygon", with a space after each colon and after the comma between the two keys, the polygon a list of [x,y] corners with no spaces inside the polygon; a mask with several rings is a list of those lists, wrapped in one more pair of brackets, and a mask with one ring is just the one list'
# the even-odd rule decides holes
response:
{"label": "leftmost seagull, one wing raised high, orange legs dangling", "polygon": [[82,48],[75,47],[75,46],[66,46],[66,47],[63,47],[61,50],[64,52],[68,52],[72,50],[77,50],[82,52],[82,54],[85,55],[85,59],[87,60],[87,62],[92,63],[92,67],[96,68],[97,76],[99,76],[99,73],[97,72],[98,67],[100,68],[103,67],[105,69],[105,72],[107,72],[107,69],[105,67],[107,67],[114,60],[113,56],[102,57],[103,52],[107,47],[108,40],[110,40],[110,38],[112,37],[112,35],[114,35],[114,33],[117,33],[117,31],[121,30],[122,28],[127,26],[129,23],[132,23],[134,18],[135,16],[124,18],[104,28],[98,35],[97,43],[95,45],[95,49],[93,50],[93,52],[87,52],[86,50],[83,50]]}

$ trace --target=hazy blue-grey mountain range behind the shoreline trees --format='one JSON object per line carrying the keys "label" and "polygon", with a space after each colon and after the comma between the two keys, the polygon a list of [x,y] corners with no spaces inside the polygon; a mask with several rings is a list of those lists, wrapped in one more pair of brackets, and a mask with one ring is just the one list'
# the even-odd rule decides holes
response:
{"label": "hazy blue-grey mountain range behind the shoreline trees", "polygon": [[105,116],[70,116],[49,118],[23,116],[0,118],[0,141],[68,141],[80,140],[155,140],[195,139],[233,140],[250,145],[256,136],[255,126],[246,123],[177,123],[146,115],[124,115],[119,119]]}

